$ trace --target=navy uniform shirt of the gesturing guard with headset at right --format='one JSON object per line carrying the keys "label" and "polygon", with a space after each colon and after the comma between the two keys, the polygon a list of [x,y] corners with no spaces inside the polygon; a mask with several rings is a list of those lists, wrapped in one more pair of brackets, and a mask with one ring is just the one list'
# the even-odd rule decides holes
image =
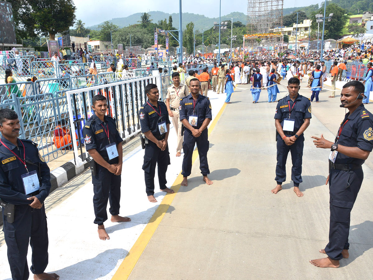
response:
{"label": "navy uniform shirt of the gesturing guard with headset at right", "polygon": [[[373,149],[373,121],[372,113],[361,104],[352,114],[348,112],[342,124],[345,124],[338,145],[347,147],[358,147],[362,150],[372,152]],[[348,121],[347,121],[348,120]],[[346,122],[347,121],[347,122]],[[339,130],[338,130],[339,131]],[[358,164],[362,165],[364,159],[351,158],[350,156],[338,153],[335,159],[336,164]]]}

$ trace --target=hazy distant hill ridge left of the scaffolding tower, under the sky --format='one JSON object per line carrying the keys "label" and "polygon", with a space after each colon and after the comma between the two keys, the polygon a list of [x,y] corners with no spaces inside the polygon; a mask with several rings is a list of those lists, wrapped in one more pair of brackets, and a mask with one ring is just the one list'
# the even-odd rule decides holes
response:
{"label": "hazy distant hill ridge left of the scaffolding tower, under the sky", "polygon": [[[169,18],[169,16],[172,16],[172,21],[173,21],[173,27],[176,29],[179,29],[179,13],[164,13],[160,11],[152,11],[148,12],[150,14],[150,19],[153,19],[153,23],[158,23],[158,21]],[[125,18],[113,18],[110,19],[109,22],[112,22],[115,25],[118,25],[120,28],[132,25],[132,24],[137,24],[138,21],[140,20],[141,13],[134,13],[133,15],[126,16]],[[227,17],[234,18],[238,16],[238,18],[233,19],[233,22],[235,21],[240,21],[243,24],[246,25],[247,22],[247,15],[241,12],[233,12],[228,15],[222,15],[222,21],[228,20]],[[219,22],[219,17],[217,18],[208,18],[207,16],[204,15],[199,15],[199,14],[194,14],[194,13],[183,13],[182,14],[182,22],[183,22],[183,29],[186,28],[186,24],[189,22],[194,22],[195,24],[195,29],[210,29],[214,25],[214,21]],[[89,26],[87,28],[89,29],[97,29],[98,24]]]}

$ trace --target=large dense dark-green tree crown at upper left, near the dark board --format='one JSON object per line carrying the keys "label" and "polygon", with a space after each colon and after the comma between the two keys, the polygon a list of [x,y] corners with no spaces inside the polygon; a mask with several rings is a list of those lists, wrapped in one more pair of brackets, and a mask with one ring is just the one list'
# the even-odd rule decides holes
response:
{"label": "large dense dark-green tree crown at upper left, near the dark board", "polygon": [[75,22],[73,0],[29,0],[30,16],[37,33],[54,40],[57,33],[65,33]]}

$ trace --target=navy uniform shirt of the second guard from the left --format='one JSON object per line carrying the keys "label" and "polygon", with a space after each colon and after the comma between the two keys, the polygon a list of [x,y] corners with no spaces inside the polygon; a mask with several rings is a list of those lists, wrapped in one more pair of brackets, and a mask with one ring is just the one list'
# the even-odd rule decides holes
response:
{"label": "navy uniform shirt of the second guard from the left", "polygon": [[[108,129],[110,143],[106,134]],[[95,113],[84,124],[83,138],[86,150],[96,149],[106,160],[108,156],[105,147],[111,143],[116,143],[117,145],[123,141],[117,130],[115,119],[110,116],[104,116],[104,122],[102,122]]]}

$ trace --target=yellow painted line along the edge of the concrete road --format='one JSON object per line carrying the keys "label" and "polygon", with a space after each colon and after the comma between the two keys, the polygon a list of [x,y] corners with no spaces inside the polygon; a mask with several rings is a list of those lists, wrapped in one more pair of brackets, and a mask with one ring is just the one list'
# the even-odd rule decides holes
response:
{"label": "yellow painted line along the edge of the concrete road", "polygon": [[[226,104],[224,103],[219,113],[217,113],[216,117],[211,123],[209,127],[209,136],[211,134],[211,131],[214,129],[217,121],[219,120],[220,116],[222,115],[225,107],[226,107]],[[197,156],[198,156],[198,150],[195,149],[193,152],[193,156],[192,156],[192,164],[197,159]],[[175,191],[175,193],[169,193],[166,196],[164,196],[162,202],[158,206],[153,217],[151,217],[149,223],[146,225],[146,227],[140,234],[139,238],[136,240],[134,246],[132,246],[131,250],[129,250],[125,259],[123,259],[122,263],[119,265],[119,268],[114,274],[112,280],[128,279],[129,274],[131,274],[142,252],[144,252],[145,247],[148,245],[158,225],[162,221],[164,214],[166,214],[167,209],[169,208],[173,199],[176,196],[176,193],[178,193],[181,187],[180,184],[182,180],[183,180],[183,175],[181,175],[181,172],[180,172],[175,182],[173,182],[173,185],[172,185],[172,189]]]}

